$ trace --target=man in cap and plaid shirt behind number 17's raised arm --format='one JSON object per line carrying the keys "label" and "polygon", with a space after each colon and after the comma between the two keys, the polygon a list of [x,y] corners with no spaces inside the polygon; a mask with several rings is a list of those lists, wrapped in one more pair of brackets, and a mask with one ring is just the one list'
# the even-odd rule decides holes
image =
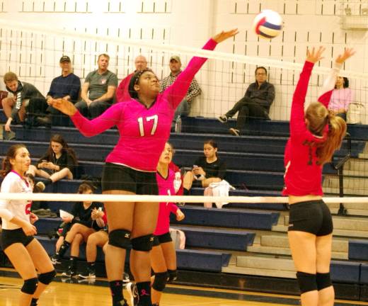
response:
{"label": "man in cap and plaid shirt behind number 17's raised arm", "polygon": [[[171,73],[163,78],[160,86],[160,92],[165,91],[168,86],[171,86],[179,74],[182,72],[180,57],[178,55],[173,55],[170,57],[170,70]],[[174,117],[173,117],[173,126],[175,126],[175,121],[178,116],[188,116],[190,113],[190,107],[192,105],[192,101],[196,96],[199,96],[201,93],[200,85],[198,84],[197,80],[193,78],[192,82],[190,83],[187,95],[183,98],[183,101],[179,104],[178,108],[176,108]]]}

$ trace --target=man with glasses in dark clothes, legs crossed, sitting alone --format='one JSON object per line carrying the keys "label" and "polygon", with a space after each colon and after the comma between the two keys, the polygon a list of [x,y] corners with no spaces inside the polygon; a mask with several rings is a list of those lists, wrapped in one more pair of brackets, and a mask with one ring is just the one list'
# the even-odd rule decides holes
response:
{"label": "man with glasses in dark clothes, legs crossed, sitting alone", "polygon": [[221,123],[226,123],[238,113],[236,128],[229,129],[231,135],[239,136],[249,117],[257,119],[270,119],[270,106],[275,99],[275,87],[267,81],[265,67],[255,69],[255,82],[248,86],[246,94],[225,115],[219,116]]}

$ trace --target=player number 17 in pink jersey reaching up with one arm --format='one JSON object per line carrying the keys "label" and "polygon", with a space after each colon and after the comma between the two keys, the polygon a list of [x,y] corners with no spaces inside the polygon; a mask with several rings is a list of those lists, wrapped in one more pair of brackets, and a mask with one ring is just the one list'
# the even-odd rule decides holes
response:
{"label": "player number 17 in pink jersey reaching up with one arm", "polygon": [[[222,32],[203,47],[214,50],[217,43],[231,38],[238,30]],[[99,117],[88,120],[67,100],[58,99],[52,106],[71,117],[85,136],[97,135],[114,125],[120,139],[106,158],[103,169],[104,194],[157,195],[156,166],[170,135],[173,115],[183,100],[190,82],[206,62],[193,57],[188,67],[166,91],[159,94],[159,80],[151,71],[139,71],[130,80],[130,101],[116,103]],[[125,249],[132,243],[130,271],[137,282],[139,305],[151,305],[151,264],[149,251],[153,243],[158,203],[105,203],[109,216],[109,244],[106,248],[106,271],[113,295],[113,305],[125,305],[122,295],[122,272]]]}

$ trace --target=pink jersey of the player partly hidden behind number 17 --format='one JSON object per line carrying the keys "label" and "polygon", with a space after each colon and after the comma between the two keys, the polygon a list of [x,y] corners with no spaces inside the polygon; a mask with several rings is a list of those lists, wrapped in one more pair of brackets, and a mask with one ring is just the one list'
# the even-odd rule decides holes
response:
{"label": "pink jersey of the player partly hidden behind number 17", "polygon": [[[175,196],[175,181],[176,173],[173,171],[173,169],[168,169],[168,177],[165,179],[159,174],[159,172],[156,173],[156,180],[157,185],[159,186],[159,195],[162,196]],[[166,203],[161,202],[160,203],[160,209],[159,209],[159,217],[157,217],[157,225],[156,229],[154,231],[154,235],[159,236],[161,234],[166,234],[168,232],[168,229],[170,227],[170,212],[173,212],[173,214],[176,214],[176,211],[178,210],[178,206],[176,206],[174,203]]]}

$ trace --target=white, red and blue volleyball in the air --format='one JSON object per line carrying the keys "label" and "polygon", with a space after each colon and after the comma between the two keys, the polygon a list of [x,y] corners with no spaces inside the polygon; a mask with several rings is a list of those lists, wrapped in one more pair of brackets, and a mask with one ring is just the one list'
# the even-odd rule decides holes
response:
{"label": "white, red and blue volleyball in the air", "polygon": [[260,38],[275,38],[282,30],[282,18],[275,11],[263,10],[255,16],[253,30]]}

